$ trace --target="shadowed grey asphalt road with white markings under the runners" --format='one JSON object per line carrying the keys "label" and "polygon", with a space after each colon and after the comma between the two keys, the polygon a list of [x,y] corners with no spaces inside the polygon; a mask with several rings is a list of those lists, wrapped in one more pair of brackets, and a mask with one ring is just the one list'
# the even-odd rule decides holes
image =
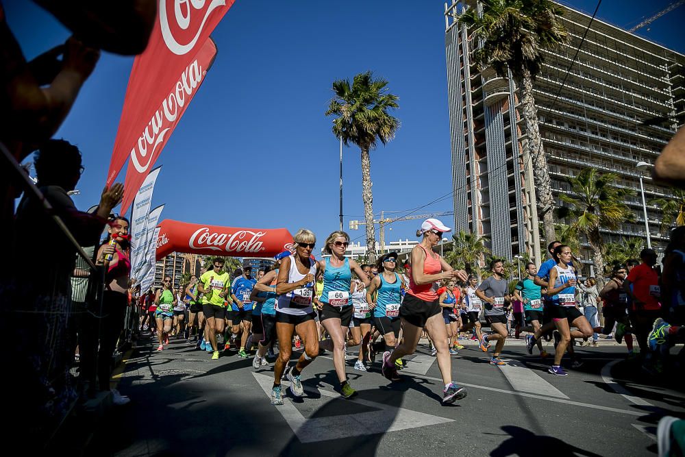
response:
{"label": "shadowed grey asphalt road with white markings under the runners", "polygon": [[306,397],[287,395],[278,407],[269,403],[271,366],[255,371],[235,354],[210,360],[181,341],[161,353],[143,343],[119,376],[132,402],[90,443],[101,454],[649,456],[658,419],[685,417],[682,383],[641,378],[625,348],[611,343],[577,348],[585,365],[565,378],[547,373],[549,361],[527,356],[520,342],[505,348],[506,367],[468,346],[453,356],[452,371],[469,395],[450,406],[440,404],[440,371],[425,345],[392,384],[379,361],[360,373],[349,356],[359,391],[351,400],[340,397],[328,354],[303,371]]}

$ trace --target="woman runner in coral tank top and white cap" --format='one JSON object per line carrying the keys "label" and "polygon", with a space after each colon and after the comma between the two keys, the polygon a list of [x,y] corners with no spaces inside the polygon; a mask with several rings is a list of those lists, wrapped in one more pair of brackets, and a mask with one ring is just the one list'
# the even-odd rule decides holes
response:
{"label": "woman runner in coral tank top and white cap", "polygon": [[466,397],[466,389],[452,382],[452,362],[447,349],[445,321],[438,305],[438,294],[433,289],[436,281],[451,280],[453,277],[466,280],[464,271],[454,270],[433,252],[433,247],[442,240],[443,233],[450,230],[438,219],[426,219],[421,224],[421,230],[416,231],[416,236],[423,236],[423,239],[412,249],[409,289],[399,312],[403,341],[392,353],[384,352],[382,365],[383,375],[388,380],[399,380],[395,360],[414,354],[425,328],[437,349],[438,367],[445,384],[443,403],[453,403]]}

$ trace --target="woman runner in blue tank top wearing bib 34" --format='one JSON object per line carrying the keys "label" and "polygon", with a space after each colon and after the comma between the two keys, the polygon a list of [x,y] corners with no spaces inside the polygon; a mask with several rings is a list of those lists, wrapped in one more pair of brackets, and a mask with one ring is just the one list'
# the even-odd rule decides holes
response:
{"label": "woman runner in blue tank top wearing bib 34", "polygon": [[[371,285],[366,289],[366,301],[373,308],[373,323],[376,330],[383,336],[386,351],[394,351],[399,341],[401,319],[399,307],[402,301],[402,289],[406,287],[401,277],[395,273],[397,253],[390,252],[378,260],[379,275],[373,277]],[[377,291],[376,301],[373,293]],[[381,343],[381,344],[382,344]],[[380,350],[374,347],[375,351]]]}

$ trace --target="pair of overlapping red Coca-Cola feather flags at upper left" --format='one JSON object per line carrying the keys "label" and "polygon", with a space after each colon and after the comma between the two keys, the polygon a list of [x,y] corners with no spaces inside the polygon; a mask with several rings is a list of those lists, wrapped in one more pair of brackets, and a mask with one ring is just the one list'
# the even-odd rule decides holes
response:
{"label": "pair of overlapping red Coca-Cola feather flags at upper left", "polygon": [[210,33],[234,0],[159,0],[145,52],[134,60],[107,175],[131,158],[121,212],[160,155],[216,55]]}

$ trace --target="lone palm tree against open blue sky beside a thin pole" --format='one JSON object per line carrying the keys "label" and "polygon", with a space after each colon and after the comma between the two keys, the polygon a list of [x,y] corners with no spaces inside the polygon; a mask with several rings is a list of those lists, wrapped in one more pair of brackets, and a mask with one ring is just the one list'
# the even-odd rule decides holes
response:
{"label": "lone palm tree against open blue sky beside a thin pole", "polygon": [[366,219],[366,252],[369,262],[376,261],[376,234],[373,226],[373,193],[371,192],[371,159],[369,151],[379,140],[384,145],[395,138],[399,120],[388,110],[399,108],[399,97],[388,93],[388,82],[374,78],[371,71],[349,79],[336,79],[333,82],[334,97],[331,99],[326,116],[336,116],[333,121],[333,134],[342,138],[349,146],[354,143],[362,151],[362,199],[364,219]]}

